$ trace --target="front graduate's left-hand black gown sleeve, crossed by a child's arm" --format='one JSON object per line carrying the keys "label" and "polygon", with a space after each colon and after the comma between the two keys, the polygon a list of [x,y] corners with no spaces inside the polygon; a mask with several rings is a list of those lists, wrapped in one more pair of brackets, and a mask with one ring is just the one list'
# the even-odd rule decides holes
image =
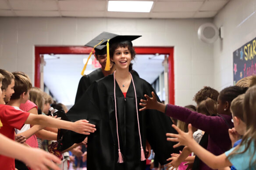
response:
{"label": "front graduate's left-hand black gown sleeve, crossed by a child's arm", "polygon": [[[67,112],[67,117],[72,122],[86,119],[89,123],[96,125],[94,120],[99,119],[99,113],[98,90],[95,82]],[[60,129],[58,131],[58,150],[63,151],[68,149],[73,144],[82,142],[86,136],[87,135],[79,134],[70,130]]]}

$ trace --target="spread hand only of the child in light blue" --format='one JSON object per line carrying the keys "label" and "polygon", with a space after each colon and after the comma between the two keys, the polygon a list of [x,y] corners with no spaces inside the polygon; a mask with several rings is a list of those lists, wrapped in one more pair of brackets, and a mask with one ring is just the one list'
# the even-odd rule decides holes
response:
{"label": "spread hand only of the child in light blue", "polygon": [[185,133],[183,132],[180,128],[178,128],[175,125],[172,125],[174,129],[178,132],[178,134],[174,133],[167,133],[166,136],[172,137],[172,138],[167,138],[168,141],[172,142],[178,142],[176,145],[173,147],[176,148],[178,146],[188,146],[190,142],[193,142],[193,132],[192,132],[192,125],[188,124],[188,132]]}

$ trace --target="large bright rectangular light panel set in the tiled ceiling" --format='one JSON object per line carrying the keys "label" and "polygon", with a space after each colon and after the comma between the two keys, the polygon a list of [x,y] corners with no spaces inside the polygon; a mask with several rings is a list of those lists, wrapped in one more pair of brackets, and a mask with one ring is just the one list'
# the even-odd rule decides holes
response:
{"label": "large bright rectangular light panel set in the tiled ceiling", "polygon": [[150,12],[153,1],[108,1],[108,11],[115,12]]}

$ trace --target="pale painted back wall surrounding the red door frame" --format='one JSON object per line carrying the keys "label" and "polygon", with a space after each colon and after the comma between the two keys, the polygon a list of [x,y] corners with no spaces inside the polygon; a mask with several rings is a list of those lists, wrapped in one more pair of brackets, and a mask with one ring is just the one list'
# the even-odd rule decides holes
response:
{"label": "pale painted back wall surrounding the red door frame", "polygon": [[213,45],[197,38],[199,26],[209,21],[0,17],[0,68],[23,71],[34,82],[35,45],[84,45],[102,31],[142,35],[135,46],[174,46],[175,104],[193,104],[199,89],[214,85]]}

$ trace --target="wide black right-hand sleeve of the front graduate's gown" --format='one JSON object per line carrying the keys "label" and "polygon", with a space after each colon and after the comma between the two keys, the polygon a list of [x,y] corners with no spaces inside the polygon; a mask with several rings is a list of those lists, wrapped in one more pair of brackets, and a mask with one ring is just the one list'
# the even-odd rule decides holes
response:
{"label": "wide black right-hand sleeve of the front graduate's gown", "polygon": [[[149,86],[146,90],[146,94],[151,95],[151,92],[155,92],[153,87]],[[157,97],[157,101],[160,102],[160,99]],[[154,153],[161,165],[164,165],[170,161],[167,161],[171,157],[171,153],[178,153],[179,150],[182,150],[183,146],[178,148],[173,148],[176,142],[167,141],[166,133],[175,133],[177,131],[172,128],[173,122],[171,118],[166,114],[148,109],[146,110],[147,115],[147,140],[152,147]]]}

